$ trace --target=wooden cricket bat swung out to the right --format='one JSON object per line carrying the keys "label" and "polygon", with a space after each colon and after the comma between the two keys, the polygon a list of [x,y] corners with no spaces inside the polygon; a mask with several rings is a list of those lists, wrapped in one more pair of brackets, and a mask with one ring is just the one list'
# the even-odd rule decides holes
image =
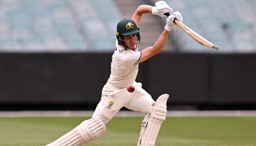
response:
{"label": "wooden cricket bat swung out to the right", "polygon": [[[165,15],[168,17],[170,16],[170,13],[165,13]],[[210,47],[213,49],[218,50],[219,47],[208,41],[207,39],[203,38],[201,35],[197,34],[195,31],[193,31],[191,28],[189,28],[186,24],[179,22],[178,20],[174,19],[174,23],[176,23],[182,30],[184,30],[191,38],[193,38],[196,42],[200,43],[203,46]]]}

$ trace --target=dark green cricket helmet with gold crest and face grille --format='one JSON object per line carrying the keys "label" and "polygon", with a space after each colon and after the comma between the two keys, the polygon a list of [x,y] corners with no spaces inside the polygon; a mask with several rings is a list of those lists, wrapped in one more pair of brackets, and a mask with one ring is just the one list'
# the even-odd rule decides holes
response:
{"label": "dark green cricket helmet with gold crest and face grille", "polygon": [[[137,38],[136,38],[136,48],[137,48],[140,43],[140,31],[136,23],[132,19],[123,19],[120,22],[118,22],[116,38],[120,45],[127,46],[125,45],[124,40],[122,39],[122,36],[128,36],[133,34],[137,34]],[[126,41],[129,41],[129,40],[126,40]]]}

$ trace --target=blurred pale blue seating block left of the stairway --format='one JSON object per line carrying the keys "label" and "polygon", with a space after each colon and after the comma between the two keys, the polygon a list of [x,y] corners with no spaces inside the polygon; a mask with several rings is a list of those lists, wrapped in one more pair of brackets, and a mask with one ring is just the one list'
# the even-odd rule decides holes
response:
{"label": "blurred pale blue seating block left of the stairway", "polygon": [[0,51],[113,51],[109,36],[121,19],[114,7],[112,0],[0,0]]}

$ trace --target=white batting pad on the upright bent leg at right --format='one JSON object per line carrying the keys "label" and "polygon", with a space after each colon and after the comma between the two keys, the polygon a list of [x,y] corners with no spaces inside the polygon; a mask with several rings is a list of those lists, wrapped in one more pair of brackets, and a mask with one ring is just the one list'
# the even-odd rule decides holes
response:
{"label": "white batting pad on the upright bent leg at right", "polygon": [[163,94],[158,97],[155,105],[153,106],[148,119],[145,132],[141,139],[138,141],[138,146],[154,146],[155,140],[157,139],[158,132],[160,130],[161,124],[166,118],[166,103],[169,98],[168,94]]}

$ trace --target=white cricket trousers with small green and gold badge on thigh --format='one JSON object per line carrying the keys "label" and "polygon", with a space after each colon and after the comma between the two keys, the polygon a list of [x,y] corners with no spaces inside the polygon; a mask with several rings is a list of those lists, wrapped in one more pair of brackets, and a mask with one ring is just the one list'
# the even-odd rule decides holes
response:
{"label": "white cricket trousers with small green and gold badge on thigh", "polygon": [[152,108],[155,101],[142,87],[136,86],[135,91],[130,93],[127,88],[116,89],[111,84],[106,84],[102,89],[101,101],[99,101],[92,118],[108,123],[114,115],[126,107],[133,111],[146,113]]}

